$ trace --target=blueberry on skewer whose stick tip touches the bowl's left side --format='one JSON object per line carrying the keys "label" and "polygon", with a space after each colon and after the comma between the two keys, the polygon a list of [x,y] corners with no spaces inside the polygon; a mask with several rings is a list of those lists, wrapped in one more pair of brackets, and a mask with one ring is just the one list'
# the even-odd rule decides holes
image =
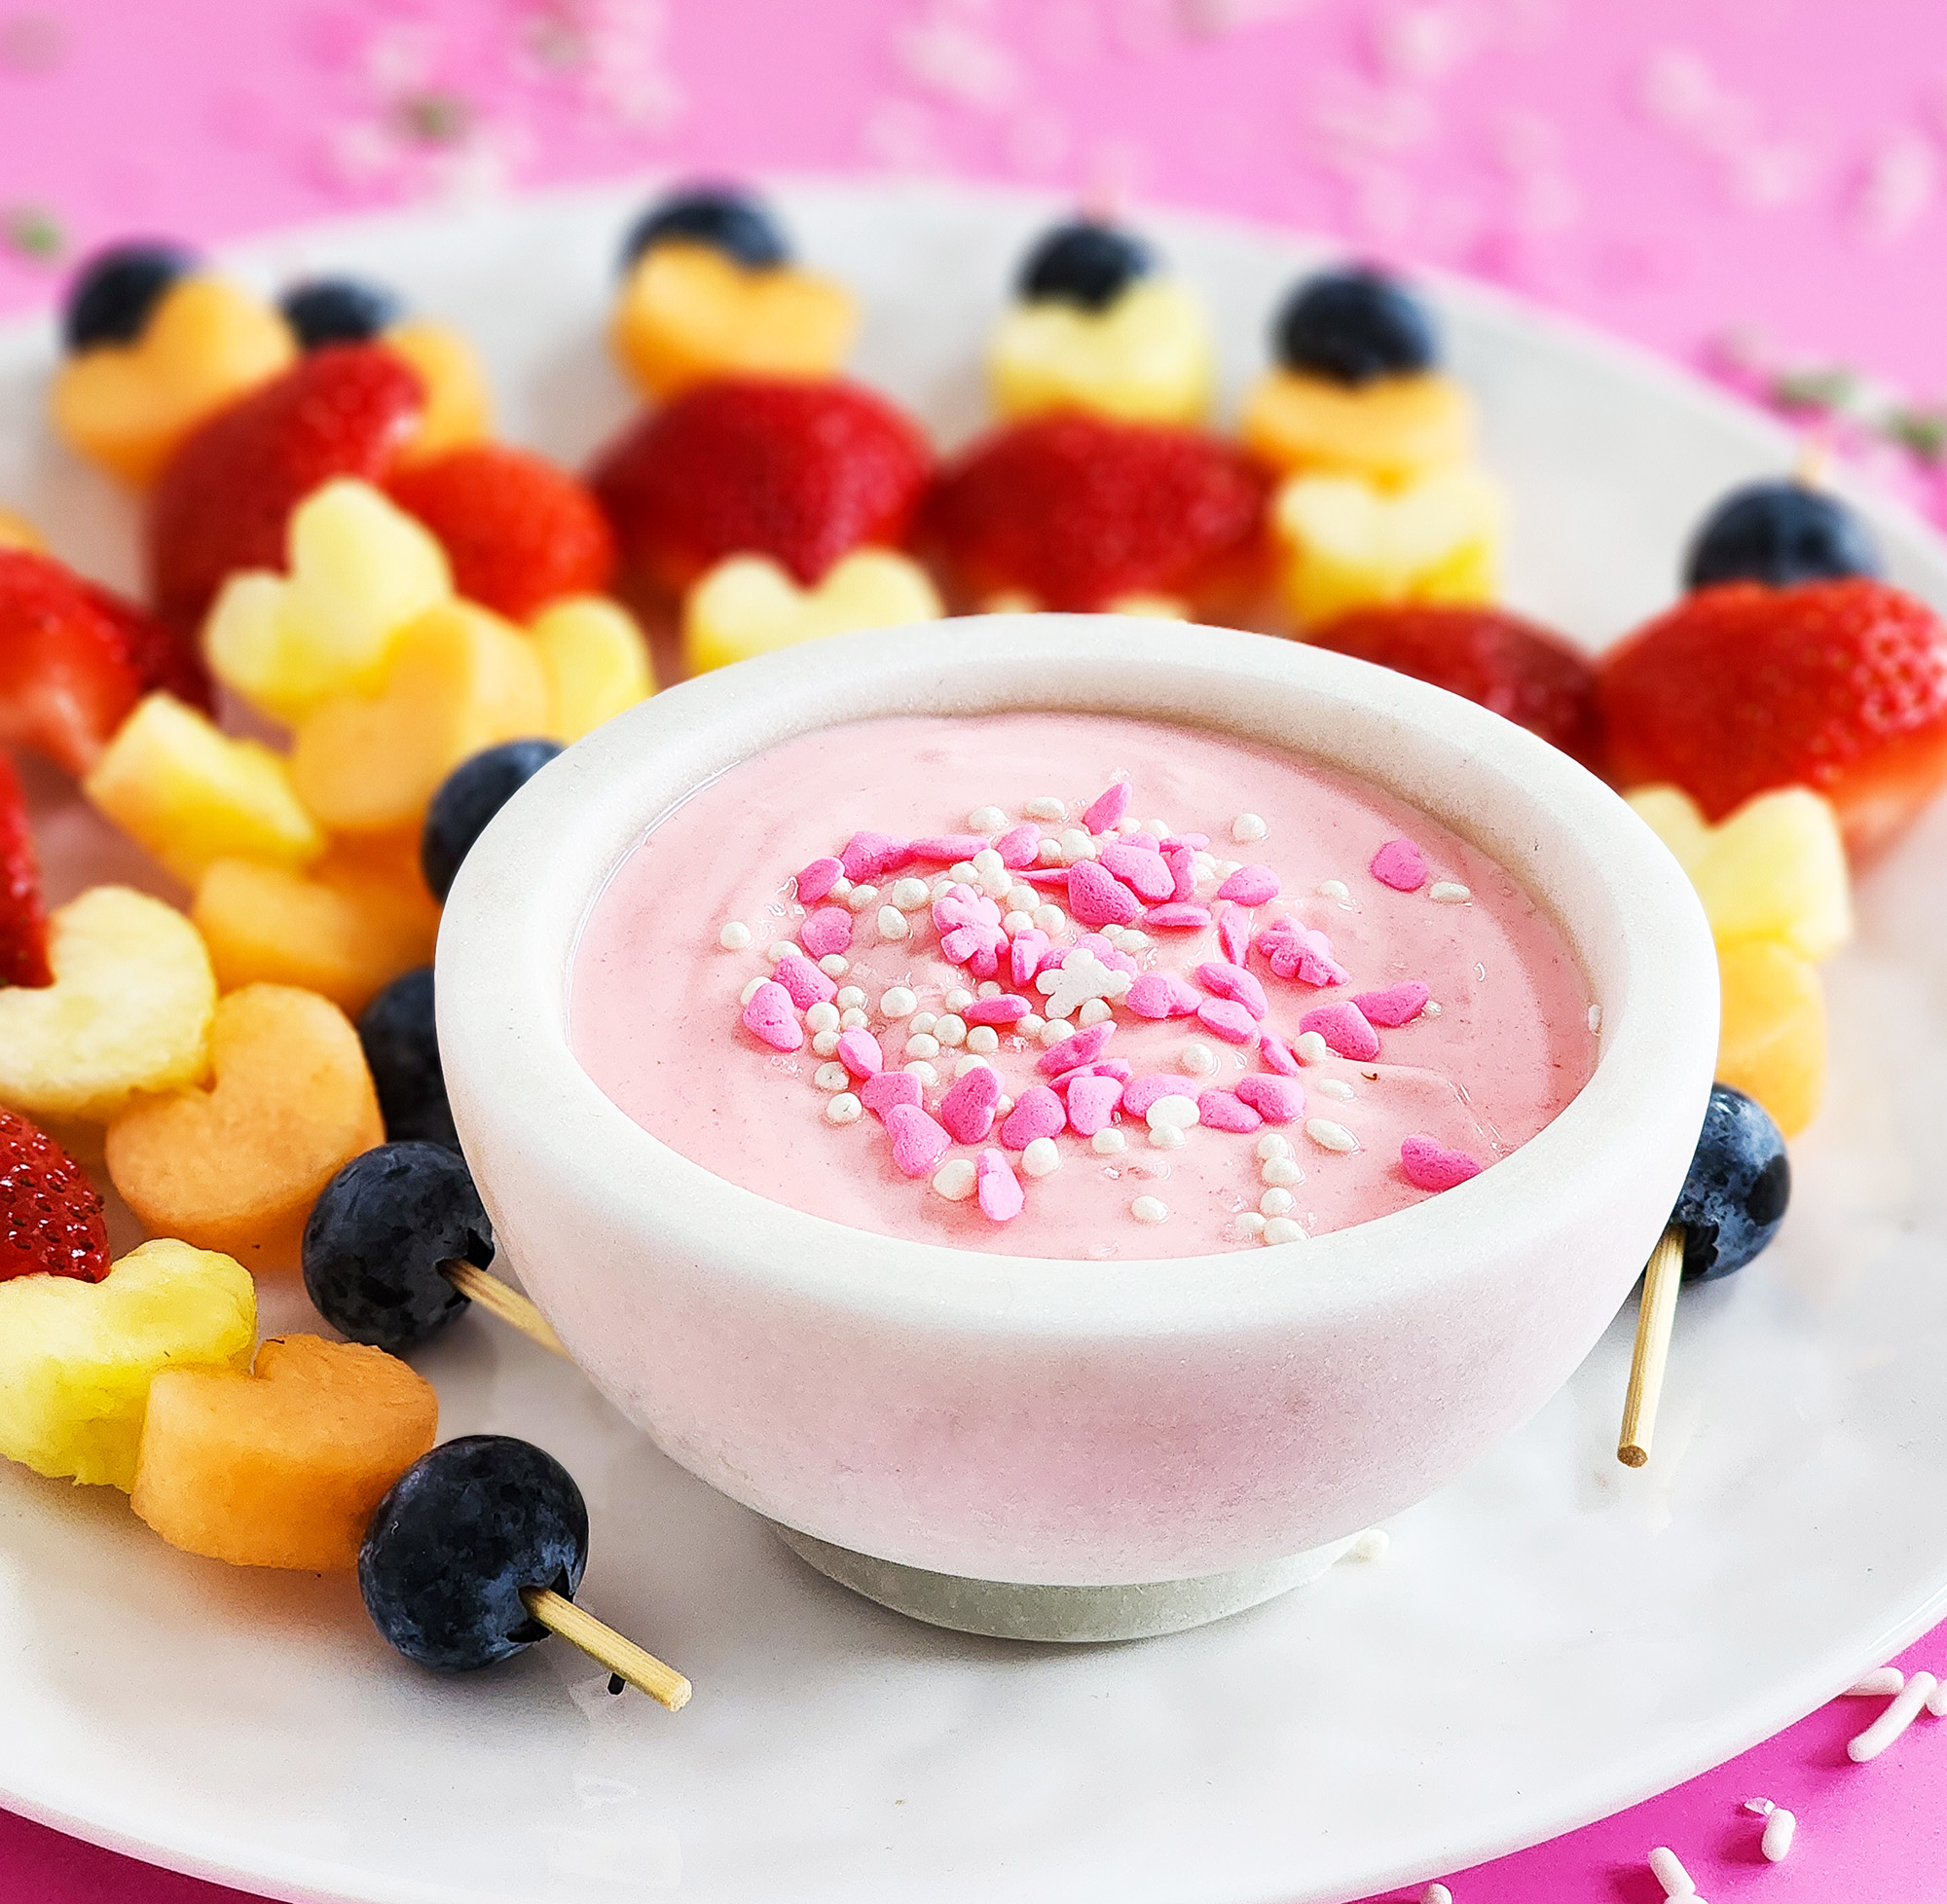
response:
{"label": "blueberry on skewer whose stick tip touches the bowl's left side", "polygon": [[493,1225],[465,1158],[434,1143],[354,1156],[304,1225],[304,1287],[341,1336],[393,1355],[446,1328],[467,1299],[440,1263],[493,1262]]}

